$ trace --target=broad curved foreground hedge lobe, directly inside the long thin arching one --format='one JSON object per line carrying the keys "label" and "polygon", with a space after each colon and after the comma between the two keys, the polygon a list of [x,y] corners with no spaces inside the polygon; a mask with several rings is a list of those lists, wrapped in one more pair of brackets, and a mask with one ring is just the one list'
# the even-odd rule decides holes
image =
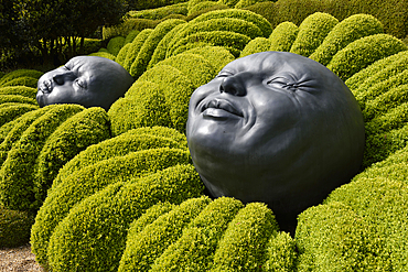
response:
{"label": "broad curved foreground hedge lobe, directly inside the long thin arching one", "polygon": [[126,247],[126,230],[136,218],[159,202],[180,204],[200,196],[202,189],[200,177],[190,165],[106,187],[76,205],[55,228],[49,246],[51,268],[55,271],[118,268]]}

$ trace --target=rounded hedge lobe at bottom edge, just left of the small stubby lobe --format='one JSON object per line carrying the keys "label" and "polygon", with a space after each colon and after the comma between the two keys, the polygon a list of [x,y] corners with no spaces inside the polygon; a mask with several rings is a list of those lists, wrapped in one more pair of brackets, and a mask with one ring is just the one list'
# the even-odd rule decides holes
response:
{"label": "rounded hedge lobe at bottom edge, just left of the small stubby lobe", "polygon": [[275,216],[265,204],[248,204],[229,222],[211,271],[259,271],[267,243],[277,231]]}

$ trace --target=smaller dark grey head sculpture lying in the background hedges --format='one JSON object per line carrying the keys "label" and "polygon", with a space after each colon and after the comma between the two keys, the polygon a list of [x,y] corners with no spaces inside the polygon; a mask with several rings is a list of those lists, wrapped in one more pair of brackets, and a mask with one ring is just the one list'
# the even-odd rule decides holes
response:
{"label": "smaller dark grey head sculpture lying in the background hedges", "polygon": [[77,56],[44,74],[37,83],[40,107],[78,104],[85,108],[110,106],[132,85],[133,78],[118,63],[98,56]]}

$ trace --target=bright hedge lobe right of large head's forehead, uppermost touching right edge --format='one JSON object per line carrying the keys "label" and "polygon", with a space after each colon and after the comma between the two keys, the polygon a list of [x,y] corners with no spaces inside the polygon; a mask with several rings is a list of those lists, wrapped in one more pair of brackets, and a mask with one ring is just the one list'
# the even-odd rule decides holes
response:
{"label": "bright hedge lobe right of large head's forehead, uppermost touching right edge", "polygon": [[346,80],[375,61],[407,48],[407,45],[401,41],[387,34],[365,36],[339,51],[329,63],[328,68]]}

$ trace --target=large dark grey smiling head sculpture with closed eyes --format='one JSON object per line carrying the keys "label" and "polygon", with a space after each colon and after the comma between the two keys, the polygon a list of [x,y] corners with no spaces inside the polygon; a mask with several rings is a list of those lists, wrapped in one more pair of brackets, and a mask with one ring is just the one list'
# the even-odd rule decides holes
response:
{"label": "large dark grey smiling head sculpture with closed eyes", "polygon": [[325,66],[286,52],[238,58],[190,100],[194,165],[210,194],[264,202],[281,227],[358,172],[359,107]]}

